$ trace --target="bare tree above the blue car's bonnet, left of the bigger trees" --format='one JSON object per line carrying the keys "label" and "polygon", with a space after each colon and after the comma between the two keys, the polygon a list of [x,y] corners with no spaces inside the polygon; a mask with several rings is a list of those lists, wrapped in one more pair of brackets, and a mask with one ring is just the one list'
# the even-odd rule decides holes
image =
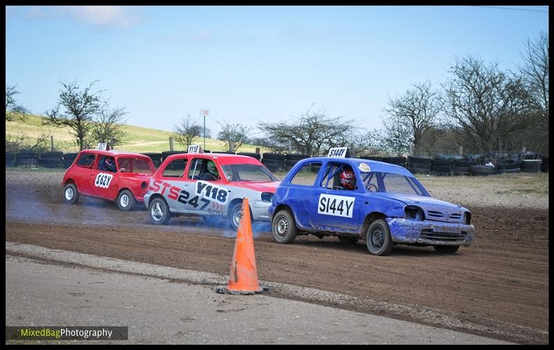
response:
{"label": "bare tree above the blue car's bonnet, left of the bigger trees", "polygon": [[[436,120],[443,108],[443,102],[439,93],[432,89],[431,82],[413,84],[409,89],[397,98],[389,98],[388,107],[384,110],[393,120],[402,122],[408,127],[413,140],[413,148],[416,154],[421,151],[423,135],[436,125]],[[395,122],[389,122],[395,125]]]}

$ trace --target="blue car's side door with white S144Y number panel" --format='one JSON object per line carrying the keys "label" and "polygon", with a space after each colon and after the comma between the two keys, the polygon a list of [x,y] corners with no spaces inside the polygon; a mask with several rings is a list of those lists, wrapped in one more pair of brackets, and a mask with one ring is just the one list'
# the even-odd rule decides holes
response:
{"label": "blue car's side door with white S144Y number panel", "polygon": [[[341,184],[340,174],[350,169],[356,176],[352,189]],[[357,230],[359,210],[364,205],[364,187],[357,169],[341,160],[333,160],[321,167],[316,191],[312,194],[312,224],[316,230]]]}

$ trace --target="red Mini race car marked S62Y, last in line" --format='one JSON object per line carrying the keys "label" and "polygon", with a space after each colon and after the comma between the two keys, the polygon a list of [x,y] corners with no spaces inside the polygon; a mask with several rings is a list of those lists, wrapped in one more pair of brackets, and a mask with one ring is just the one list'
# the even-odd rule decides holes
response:
{"label": "red Mini race car marked S62Y, last in line", "polygon": [[64,174],[64,201],[73,204],[83,194],[117,201],[128,211],[144,201],[155,171],[152,159],[142,154],[84,149]]}

